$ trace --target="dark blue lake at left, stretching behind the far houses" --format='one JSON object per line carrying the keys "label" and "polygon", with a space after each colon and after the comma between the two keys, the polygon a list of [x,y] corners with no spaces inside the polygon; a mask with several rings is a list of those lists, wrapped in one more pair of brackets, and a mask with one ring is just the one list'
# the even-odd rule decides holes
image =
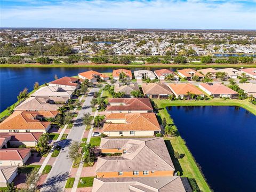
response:
{"label": "dark blue lake at left, stretching behind the far houses", "polygon": [[[29,92],[33,90],[35,82],[44,84],[54,80],[56,74],[59,78],[63,76],[75,76],[87,70],[95,70],[100,73],[112,73],[115,68],[89,68],[89,67],[72,67],[72,68],[0,68],[0,110],[5,110],[17,101],[17,96],[25,87]],[[134,70],[157,70],[161,68],[127,68]],[[169,68],[176,70],[176,68]]]}

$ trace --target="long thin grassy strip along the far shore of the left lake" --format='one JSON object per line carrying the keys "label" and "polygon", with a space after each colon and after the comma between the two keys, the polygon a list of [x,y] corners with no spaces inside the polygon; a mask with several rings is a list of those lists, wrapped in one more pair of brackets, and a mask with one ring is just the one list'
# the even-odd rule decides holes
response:
{"label": "long thin grassy strip along the far shore of the left lake", "polygon": [[144,64],[144,65],[124,65],[124,64],[112,64],[112,63],[106,63],[106,64],[96,64],[96,63],[79,63],[79,64],[38,64],[38,63],[24,63],[24,64],[1,64],[0,68],[6,68],[6,67],[94,67],[94,68],[135,68],[135,67],[166,67],[166,68],[183,68],[183,67],[197,67],[197,68],[208,68],[208,67],[256,67],[255,63],[251,64],[217,64],[217,63],[210,63],[210,64],[162,64],[162,63],[153,63],[153,64]]}

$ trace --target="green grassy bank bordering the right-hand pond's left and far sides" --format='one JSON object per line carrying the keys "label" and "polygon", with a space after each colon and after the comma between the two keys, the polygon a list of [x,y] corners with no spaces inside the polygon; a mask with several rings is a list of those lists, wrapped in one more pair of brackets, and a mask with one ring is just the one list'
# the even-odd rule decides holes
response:
{"label": "green grassy bank bordering the right-hand pond's left and far sides", "polygon": [[[239,106],[256,115],[256,106],[252,105],[248,100],[210,99],[207,101],[170,101],[155,99],[154,102],[157,103],[159,108],[157,115],[161,116],[161,119],[165,117],[168,124],[173,124],[173,119],[166,110],[167,106]],[[181,136],[177,134],[174,137],[164,139],[169,148],[170,155],[172,156],[172,159],[174,159],[174,166],[177,171],[182,173],[182,177],[188,177],[191,180],[195,180],[202,191],[210,191],[209,185],[207,185],[193,155],[190,153],[186,146],[186,142]],[[185,154],[185,156],[177,160],[174,158],[174,151],[178,151],[179,154]]]}

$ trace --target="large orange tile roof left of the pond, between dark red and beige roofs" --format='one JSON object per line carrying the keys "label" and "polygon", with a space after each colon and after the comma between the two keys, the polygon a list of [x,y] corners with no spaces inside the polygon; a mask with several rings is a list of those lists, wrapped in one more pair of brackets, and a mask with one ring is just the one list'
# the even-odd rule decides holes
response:
{"label": "large orange tile roof left of the pond, between dark red and beige roofs", "polygon": [[106,116],[111,119],[125,119],[126,123],[105,123],[103,131],[159,131],[161,130],[154,113],[117,114]]}

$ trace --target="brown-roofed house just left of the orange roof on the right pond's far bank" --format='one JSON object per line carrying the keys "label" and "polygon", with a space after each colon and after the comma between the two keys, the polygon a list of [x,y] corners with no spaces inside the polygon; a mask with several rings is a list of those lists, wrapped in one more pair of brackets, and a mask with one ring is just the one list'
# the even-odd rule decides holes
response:
{"label": "brown-roofed house just left of the orange roof on the right pond's far bank", "polygon": [[166,99],[173,95],[170,88],[164,83],[142,83],[141,89],[145,97],[150,99]]}

